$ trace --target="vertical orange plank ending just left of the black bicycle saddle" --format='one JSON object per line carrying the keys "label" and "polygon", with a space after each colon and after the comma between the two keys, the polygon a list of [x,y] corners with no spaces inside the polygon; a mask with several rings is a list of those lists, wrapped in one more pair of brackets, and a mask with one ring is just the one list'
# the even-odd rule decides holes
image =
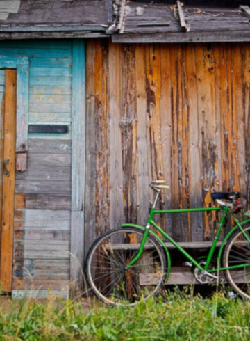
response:
{"label": "vertical orange plank ending just left of the black bicycle saddle", "polygon": [[[211,205],[211,192],[217,189],[217,143],[215,111],[215,60],[210,45],[195,49],[197,69],[197,95],[199,109],[199,148],[201,152],[201,187],[203,205]],[[214,234],[213,214],[205,214],[203,238],[210,240]]]}

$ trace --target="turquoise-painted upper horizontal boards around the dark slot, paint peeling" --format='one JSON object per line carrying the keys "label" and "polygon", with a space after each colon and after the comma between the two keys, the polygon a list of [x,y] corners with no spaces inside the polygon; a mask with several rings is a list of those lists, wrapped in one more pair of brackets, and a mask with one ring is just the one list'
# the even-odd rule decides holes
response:
{"label": "turquoise-painted upper horizontal boards around the dark slot, paint peeling", "polygon": [[[28,123],[70,124],[72,121],[72,41],[4,41],[1,54],[28,57]],[[71,138],[69,133],[60,138]],[[58,134],[28,134],[31,138],[58,138]],[[62,136],[63,135],[63,136]]]}

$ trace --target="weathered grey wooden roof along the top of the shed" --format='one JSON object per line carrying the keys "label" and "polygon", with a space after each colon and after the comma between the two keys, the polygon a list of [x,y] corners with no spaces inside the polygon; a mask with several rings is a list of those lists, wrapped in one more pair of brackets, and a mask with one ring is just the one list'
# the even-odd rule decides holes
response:
{"label": "weathered grey wooden roof along the top of the shed", "polygon": [[112,35],[114,42],[250,41],[249,19],[248,6],[181,6],[180,1],[167,5],[126,0],[0,0],[0,39]]}

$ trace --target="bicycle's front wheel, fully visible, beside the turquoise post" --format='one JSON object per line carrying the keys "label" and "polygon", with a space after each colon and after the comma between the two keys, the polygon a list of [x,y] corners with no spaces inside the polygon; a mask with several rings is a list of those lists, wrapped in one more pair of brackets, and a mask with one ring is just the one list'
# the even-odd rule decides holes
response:
{"label": "bicycle's front wheel, fully visible, beside the turquoise post", "polygon": [[91,246],[86,276],[92,291],[102,301],[135,306],[141,296],[148,299],[164,283],[166,256],[151,235],[138,261],[127,267],[138,253],[143,233],[139,228],[118,228],[104,233]]}

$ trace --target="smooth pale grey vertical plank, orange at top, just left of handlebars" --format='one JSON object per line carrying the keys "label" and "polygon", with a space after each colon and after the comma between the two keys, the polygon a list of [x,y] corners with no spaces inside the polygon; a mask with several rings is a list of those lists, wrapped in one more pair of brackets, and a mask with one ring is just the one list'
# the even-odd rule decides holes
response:
{"label": "smooth pale grey vertical plank, orange at top, just left of handlebars", "polygon": [[136,111],[138,117],[138,223],[145,224],[149,212],[147,169],[147,95],[145,88],[145,45],[135,48]]}

